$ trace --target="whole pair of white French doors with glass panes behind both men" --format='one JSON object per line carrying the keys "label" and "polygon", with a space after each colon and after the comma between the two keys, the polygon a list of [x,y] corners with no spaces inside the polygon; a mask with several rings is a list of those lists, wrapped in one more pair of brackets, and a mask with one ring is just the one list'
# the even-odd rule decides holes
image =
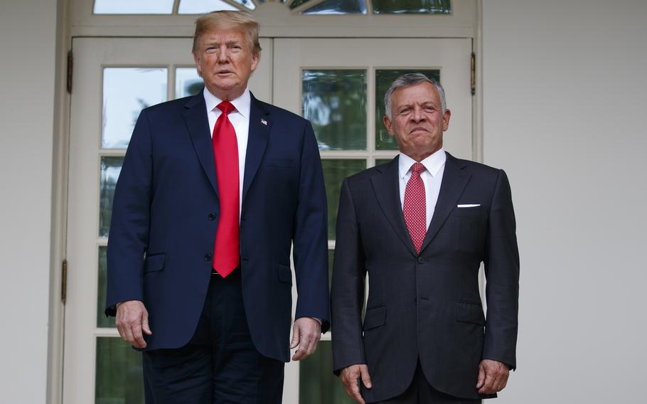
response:
{"label": "whole pair of white French doors with glass panes behind both men", "polygon": [[[415,70],[440,79],[452,112],[445,147],[471,158],[471,40],[262,38],[261,46],[252,92],[313,122],[331,260],[341,180],[397,153],[380,107],[396,75]],[[141,356],[102,314],[112,191],[141,108],[196,92],[201,80],[191,38],[75,38],[73,52],[63,402],[143,403]],[[313,357],[286,367],[284,403],[347,402],[331,366],[326,334]]]}

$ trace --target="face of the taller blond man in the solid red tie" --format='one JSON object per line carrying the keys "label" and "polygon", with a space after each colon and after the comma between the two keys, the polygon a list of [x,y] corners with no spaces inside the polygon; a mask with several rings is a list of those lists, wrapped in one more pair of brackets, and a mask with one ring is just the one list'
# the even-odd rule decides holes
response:
{"label": "face of the taller blond man in the solid red tie", "polygon": [[245,32],[238,28],[213,29],[198,39],[193,54],[205,86],[220,100],[233,100],[245,91],[259,55],[252,54]]}

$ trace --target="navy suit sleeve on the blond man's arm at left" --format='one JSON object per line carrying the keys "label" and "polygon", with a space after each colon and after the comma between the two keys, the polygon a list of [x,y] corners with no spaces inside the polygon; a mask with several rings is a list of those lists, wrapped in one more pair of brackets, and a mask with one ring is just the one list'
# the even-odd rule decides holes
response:
{"label": "navy suit sleeve on the blond man's arm at left", "polygon": [[114,190],[107,248],[106,315],[114,316],[114,306],[119,302],[144,299],[151,181],[151,133],[144,110],[135,124]]}

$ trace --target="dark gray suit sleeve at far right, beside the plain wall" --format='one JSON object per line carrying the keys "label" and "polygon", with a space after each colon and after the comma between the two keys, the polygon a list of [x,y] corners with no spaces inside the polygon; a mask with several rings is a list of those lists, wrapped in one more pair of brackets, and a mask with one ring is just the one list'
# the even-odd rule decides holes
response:
{"label": "dark gray suit sleeve at far right, beside the plain wall", "polygon": [[501,170],[488,221],[486,257],[487,319],[483,359],[516,368],[519,251],[508,176]]}

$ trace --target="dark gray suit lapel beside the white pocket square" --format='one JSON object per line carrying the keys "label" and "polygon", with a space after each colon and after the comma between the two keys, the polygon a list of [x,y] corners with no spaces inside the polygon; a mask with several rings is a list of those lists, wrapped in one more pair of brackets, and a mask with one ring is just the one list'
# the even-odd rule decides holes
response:
{"label": "dark gray suit lapel beside the white pocket square", "polygon": [[432,217],[431,223],[429,223],[427,235],[424,237],[420,252],[432,242],[445,223],[445,220],[447,220],[447,217],[449,217],[449,213],[454,211],[456,203],[459,201],[471,176],[463,171],[464,168],[464,164],[460,164],[458,159],[447,153],[447,161],[445,161],[445,169],[442,175],[442,183],[440,184],[438,201],[436,202],[436,208],[434,208],[434,216]]}

